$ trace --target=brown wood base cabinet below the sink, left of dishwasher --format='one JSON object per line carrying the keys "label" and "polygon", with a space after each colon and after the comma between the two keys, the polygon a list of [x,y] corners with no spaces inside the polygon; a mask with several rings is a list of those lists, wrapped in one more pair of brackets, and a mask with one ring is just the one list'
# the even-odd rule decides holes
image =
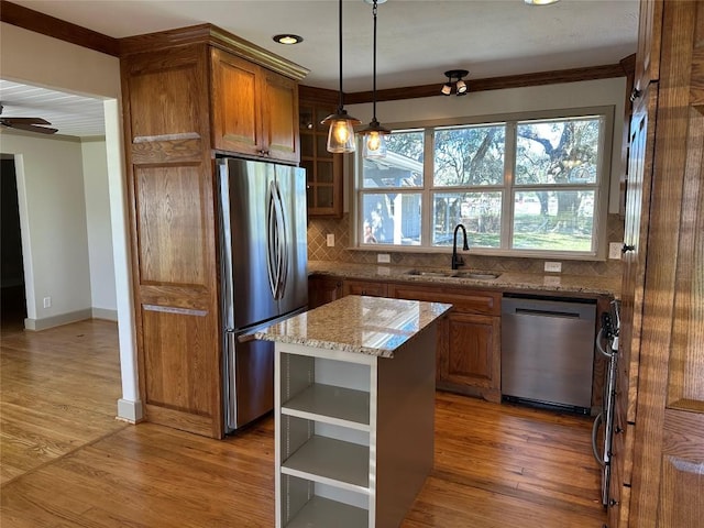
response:
{"label": "brown wood base cabinet below the sink, left of dishwasher", "polygon": [[501,293],[389,284],[388,296],[452,304],[438,326],[436,385],[501,402]]}

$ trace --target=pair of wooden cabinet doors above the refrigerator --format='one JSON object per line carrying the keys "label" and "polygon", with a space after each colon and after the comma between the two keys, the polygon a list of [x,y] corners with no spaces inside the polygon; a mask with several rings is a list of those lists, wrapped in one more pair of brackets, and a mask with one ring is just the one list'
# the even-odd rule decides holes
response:
{"label": "pair of wooden cabinet doors above the refrigerator", "polygon": [[212,145],[298,163],[298,84],[219,48],[211,48]]}

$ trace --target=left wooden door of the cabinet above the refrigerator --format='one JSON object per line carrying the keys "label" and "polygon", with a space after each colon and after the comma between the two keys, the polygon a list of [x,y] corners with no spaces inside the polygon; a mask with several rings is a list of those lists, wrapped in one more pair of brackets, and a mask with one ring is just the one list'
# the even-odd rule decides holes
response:
{"label": "left wooden door of the cabinet above the refrigerator", "polygon": [[210,55],[213,148],[263,155],[260,67],[216,47]]}

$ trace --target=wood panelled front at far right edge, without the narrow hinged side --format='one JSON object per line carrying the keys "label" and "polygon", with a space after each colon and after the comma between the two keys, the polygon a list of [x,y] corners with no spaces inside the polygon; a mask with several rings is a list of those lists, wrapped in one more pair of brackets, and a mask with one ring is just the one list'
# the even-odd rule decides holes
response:
{"label": "wood panelled front at far right edge, without the narrow hinged side", "polygon": [[704,2],[666,2],[659,85],[629,526],[694,528],[704,518]]}

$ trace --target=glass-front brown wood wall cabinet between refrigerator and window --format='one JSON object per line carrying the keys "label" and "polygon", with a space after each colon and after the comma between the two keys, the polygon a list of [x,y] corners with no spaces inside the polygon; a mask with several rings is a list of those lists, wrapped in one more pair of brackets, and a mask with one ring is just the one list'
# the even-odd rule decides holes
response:
{"label": "glass-front brown wood wall cabinet between refrigerator and window", "polygon": [[328,127],[320,124],[334,111],[333,103],[300,101],[300,166],[306,169],[309,217],[342,217],[342,154],[327,151]]}

